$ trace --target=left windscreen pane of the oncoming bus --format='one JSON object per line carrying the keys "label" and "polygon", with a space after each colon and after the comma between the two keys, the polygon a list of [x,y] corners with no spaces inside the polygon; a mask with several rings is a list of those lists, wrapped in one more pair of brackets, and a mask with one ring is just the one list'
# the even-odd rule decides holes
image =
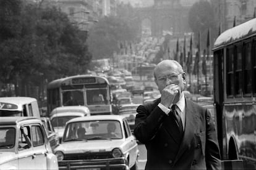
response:
{"label": "left windscreen pane of the oncoming bus", "polygon": [[83,91],[64,91],[62,92],[64,106],[84,105]]}

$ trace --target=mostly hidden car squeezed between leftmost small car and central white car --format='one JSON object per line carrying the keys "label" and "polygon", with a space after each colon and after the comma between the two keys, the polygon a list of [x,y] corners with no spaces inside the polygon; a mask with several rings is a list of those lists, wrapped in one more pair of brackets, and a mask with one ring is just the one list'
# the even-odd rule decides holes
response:
{"label": "mostly hidden car squeezed between leftmost small car and central white car", "polygon": [[51,120],[47,117],[41,117],[40,118],[43,126],[45,127],[45,132],[47,135],[47,138],[49,140],[49,144],[51,145],[51,148],[54,149],[58,147],[59,145],[59,136],[54,131],[53,125],[51,124]]}

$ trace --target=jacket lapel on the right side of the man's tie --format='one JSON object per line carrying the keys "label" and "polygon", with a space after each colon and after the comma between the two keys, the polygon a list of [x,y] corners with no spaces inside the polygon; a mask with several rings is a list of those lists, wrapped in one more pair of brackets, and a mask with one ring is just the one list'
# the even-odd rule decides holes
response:
{"label": "jacket lapel on the right side of the man's tie", "polygon": [[194,116],[195,116],[195,109],[192,107],[192,103],[186,100],[186,122],[185,122],[185,131],[184,136],[181,142],[181,146],[179,147],[179,151],[177,156],[174,160],[174,164],[177,160],[181,157],[181,155],[186,152],[187,147],[189,146],[191,140],[194,137]]}

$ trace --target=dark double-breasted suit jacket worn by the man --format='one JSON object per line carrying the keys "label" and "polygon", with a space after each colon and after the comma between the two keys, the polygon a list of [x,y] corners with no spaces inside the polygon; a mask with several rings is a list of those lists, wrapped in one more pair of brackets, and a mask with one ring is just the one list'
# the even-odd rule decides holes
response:
{"label": "dark double-breasted suit jacket worn by the man", "polygon": [[220,169],[220,148],[210,112],[186,99],[186,123],[181,142],[175,121],[157,105],[137,108],[134,135],[147,148],[145,169]]}

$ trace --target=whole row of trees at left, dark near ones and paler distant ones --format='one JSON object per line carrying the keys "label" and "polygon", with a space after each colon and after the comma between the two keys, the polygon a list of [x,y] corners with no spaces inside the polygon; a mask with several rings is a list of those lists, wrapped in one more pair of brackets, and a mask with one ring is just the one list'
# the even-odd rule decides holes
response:
{"label": "whole row of trees at left, dark near ones and paler distant ones", "polygon": [[92,58],[109,58],[119,41],[135,39],[135,27],[125,21],[133,15],[124,12],[127,7],[87,33],[54,6],[0,0],[0,85],[15,84],[15,95],[38,98],[49,81],[86,73]]}

